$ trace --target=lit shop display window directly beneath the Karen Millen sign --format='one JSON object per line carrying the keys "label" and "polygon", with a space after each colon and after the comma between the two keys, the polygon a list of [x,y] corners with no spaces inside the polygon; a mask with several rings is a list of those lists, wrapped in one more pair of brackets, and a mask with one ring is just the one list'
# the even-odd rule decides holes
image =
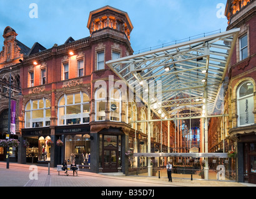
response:
{"label": "lit shop display window directly beneath the Karen Millen sign", "polygon": [[79,165],[90,165],[91,140],[89,134],[68,135],[65,138],[65,159],[68,162],[75,160]]}

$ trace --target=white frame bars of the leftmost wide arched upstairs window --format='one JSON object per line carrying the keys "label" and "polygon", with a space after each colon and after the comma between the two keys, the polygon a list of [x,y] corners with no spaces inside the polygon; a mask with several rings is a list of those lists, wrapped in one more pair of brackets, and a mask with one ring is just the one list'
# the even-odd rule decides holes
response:
{"label": "white frame bars of the leftmost wide arched upstairs window", "polygon": [[[44,107],[43,108],[39,108],[39,101],[40,100],[43,100],[43,103],[44,103]],[[46,122],[50,122],[51,123],[51,116],[49,117],[46,117],[46,110],[50,109],[51,110],[51,105],[50,107],[46,107],[46,100],[49,101],[49,99],[46,99],[46,98],[42,98],[42,99],[35,99],[35,100],[32,100],[30,99],[29,102],[26,104],[26,108],[25,108],[25,128],[31,128],[31,127],[36,127],[36,126],[33,126],[33,123],[42,123],[42,126],[41,127],[46,127]],[[33,108],[33,101],[37,101],[37,108]],[[49,103],[51,104],[51,101],[49,101]],[[30,104],[30,109],[27,110],[27,106],[28,104]],[[32,111],[39,111],[39,110],[43,110],[43,118],[35,118],[35,119],[32,119]],[[29,119],[29,122],[30,122],[30,125],[29,127],[27,127],[27,114],[26,113],[30,113],[30,119]]]}

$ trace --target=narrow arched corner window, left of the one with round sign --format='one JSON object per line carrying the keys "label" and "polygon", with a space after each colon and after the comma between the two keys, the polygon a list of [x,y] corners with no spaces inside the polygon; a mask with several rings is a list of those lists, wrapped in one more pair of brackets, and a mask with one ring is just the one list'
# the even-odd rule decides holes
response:
{"label": "narrow arched corner window, left of the one with round sign", "polygon": [[103,121],[106,118],[107,92],[104,88],[99,88],[95,93],[95,121]]}

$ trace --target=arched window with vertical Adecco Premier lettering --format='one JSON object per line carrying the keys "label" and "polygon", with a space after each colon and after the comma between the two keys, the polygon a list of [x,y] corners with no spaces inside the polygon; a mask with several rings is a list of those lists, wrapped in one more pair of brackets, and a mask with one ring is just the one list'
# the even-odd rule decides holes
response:
{"label": "arched window with vertical Adecco Premier lettering", "polygon": [[238,126],[254,124],[254,85],[250,81],[242,83],[237,90]]}

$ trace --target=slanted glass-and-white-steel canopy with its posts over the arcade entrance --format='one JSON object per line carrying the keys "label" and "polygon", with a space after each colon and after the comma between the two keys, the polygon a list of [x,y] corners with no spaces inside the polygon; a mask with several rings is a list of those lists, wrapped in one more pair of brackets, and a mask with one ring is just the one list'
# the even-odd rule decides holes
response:
{"label": "slanted glass-and-white-steel canopy with its posts over the arcade entrance", "polygon": [[[136,155],[174,156],[174,154],[150,154],[150,123],[204,118],[205,150],[201,157],[206,157],[206,160],[208,157],[213,157],[212,154],[208,154],[207,118],[225,116],[223,111],[223,96],[227,84],[225,75],[239,31],[240,29],[233,29],[106,62],[114,73],[126,82],[129,89],[144,101],[147,109],[152,110],[160,118],[151,119],[148,111],[147,121],[131,121],[131,123],[147,122],[148,125],[148,152]],[[181,113],[181,111],[185,112]],[[168,137],[169,135],[168,132]],[[195,157],[195,154],[180,155]],[[215,154],[214,157],[217,157],[216,155],[227,157],[227,154]],[[205,170],[207,169],[206,166]]]}

